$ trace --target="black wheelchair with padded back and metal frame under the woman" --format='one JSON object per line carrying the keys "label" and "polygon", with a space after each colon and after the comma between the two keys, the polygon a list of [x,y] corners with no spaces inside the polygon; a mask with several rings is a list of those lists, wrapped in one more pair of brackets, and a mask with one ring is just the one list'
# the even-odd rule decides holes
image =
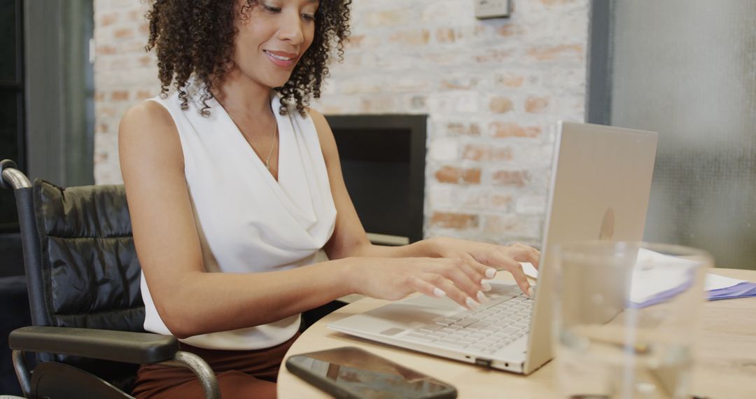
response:
{"label": "black wheelchair with padded back and metal frame under the woman", "polygon": [[[139,364],[192,370],[220,397],[202,358],[178,340],[144,332],[140,267],[122,185],[29,183],[10,159],[0,187],[14,190],[33,326],[11,332],[14,370],[29,398],[131,397]],[[24,352],[37,354],[32,373]]]}

